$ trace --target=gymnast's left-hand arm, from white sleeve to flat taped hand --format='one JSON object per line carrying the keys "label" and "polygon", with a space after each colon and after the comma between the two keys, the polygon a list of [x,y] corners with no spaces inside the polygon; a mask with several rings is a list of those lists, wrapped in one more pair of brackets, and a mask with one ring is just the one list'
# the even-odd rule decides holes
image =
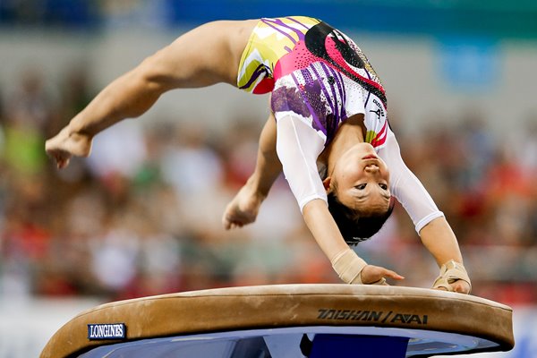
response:
{"label": "gymnast's left-hand arm, from white sleeve to flat taped hand", "polygon": [[316,160],[323,148],[324,141],[310,124],[294,115],[278,117],[277,156],[313,238],[345,283],[372,284],[384,277],[402,279],[392,270],[368,265],[345,243],[328,211],[327,194],[317,171]]}

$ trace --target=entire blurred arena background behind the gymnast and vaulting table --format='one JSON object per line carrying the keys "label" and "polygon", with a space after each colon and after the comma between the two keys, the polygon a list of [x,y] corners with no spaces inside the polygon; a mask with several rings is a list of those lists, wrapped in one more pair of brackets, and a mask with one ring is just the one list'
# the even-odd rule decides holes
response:
{"label": "entire blurred arena background behind the gymnast and vaulting table", "polygon": [[[453,226],[473,294],[515,308],[537,357],[537,3],[533,0],[0,0],[0,357],[37,356],[99,303],[223,286],[338,283],[280,178],[226,232],[265,96],[176,90],[57,171],[44,152],[109,81],[206,21],[310,15],[344,30],[388,91],[406,164]],[[405,211],[356,249],[428,287]],[[483,323],[486,324],[486,323]]]}

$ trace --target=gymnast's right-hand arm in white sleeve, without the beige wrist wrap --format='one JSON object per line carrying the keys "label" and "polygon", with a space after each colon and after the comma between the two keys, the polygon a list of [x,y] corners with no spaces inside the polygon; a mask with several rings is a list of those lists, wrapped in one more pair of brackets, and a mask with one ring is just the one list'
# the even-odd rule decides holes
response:
{"label": "gymnast's right-hand arm in white sleeve, without the beige wrist wrap", "polygon": [[[390,169],[390,189],[412,218],[423,245],[439,267],[449,260],[463,263],[463,257],[451,226],[439,211],[419,179],[405,165],[393,132],[388,132],[387,144],[379,150]],[[468,293],[470,285],[462,280],[451,284],[456,292]]]}

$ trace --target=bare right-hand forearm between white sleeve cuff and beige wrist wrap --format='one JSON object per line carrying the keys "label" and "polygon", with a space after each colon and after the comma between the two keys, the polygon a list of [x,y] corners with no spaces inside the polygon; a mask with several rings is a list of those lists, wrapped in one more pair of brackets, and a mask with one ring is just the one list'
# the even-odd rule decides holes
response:
{"label": "bare right-hand forearm between white sleeve cuff and beige wrist wrap", "polygon": [[449,260],[463,263],[456,235],[445,217],[437,217],[423,226],[420,237],[423,245],[430,251],[439,267]]}

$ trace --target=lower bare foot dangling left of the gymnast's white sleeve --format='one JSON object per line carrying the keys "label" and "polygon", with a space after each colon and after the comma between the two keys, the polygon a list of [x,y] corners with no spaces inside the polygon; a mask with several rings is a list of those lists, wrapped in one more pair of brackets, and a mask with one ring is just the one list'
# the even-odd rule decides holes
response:
{"label": "lower bare foot dangling left of the gymnast's white sleeve", "polygon": [[234,229],[235,227],[243,227],[255,221],[261,203],[266,196],[256,192],[248,183],[244,184],[234,199],[227,204],[222,224],[226,230]]}

